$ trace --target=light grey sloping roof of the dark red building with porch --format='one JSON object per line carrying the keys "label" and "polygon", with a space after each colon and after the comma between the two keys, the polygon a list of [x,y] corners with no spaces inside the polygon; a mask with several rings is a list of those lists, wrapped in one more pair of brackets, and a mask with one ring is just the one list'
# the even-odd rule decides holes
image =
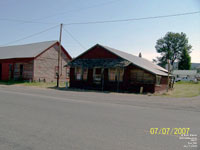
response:
{"label": "light grey sloping roof of the dark red building with porch", "polygon": [[[100,45],[102,46],[102,45]],[[110,51],[111,53],[116,54],[117,56],[126,59],[128,61],[130,61],[132,64],[143,68],[151,73],[154,73],[156,75],[162,75],[162,76],[167,76],[168,75],[168,71],[154,63],[152,63],[151,61],[141,58],[141,57],[137,57],[135,55],[132,54],[128,54],[126,52],[114,49],[114,48],[110,48],[108,46],[102,46],[105,49],[107,49],[108,51]]]}

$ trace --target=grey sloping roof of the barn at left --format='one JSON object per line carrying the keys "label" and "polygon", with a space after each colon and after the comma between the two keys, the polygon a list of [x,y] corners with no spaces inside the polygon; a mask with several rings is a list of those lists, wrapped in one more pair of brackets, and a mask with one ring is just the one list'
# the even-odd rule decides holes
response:
{"label": "grey sloping roof of the barn at left", "polygon": [[51,47],[57,41],[0,47],[0,59],[32,58]]}

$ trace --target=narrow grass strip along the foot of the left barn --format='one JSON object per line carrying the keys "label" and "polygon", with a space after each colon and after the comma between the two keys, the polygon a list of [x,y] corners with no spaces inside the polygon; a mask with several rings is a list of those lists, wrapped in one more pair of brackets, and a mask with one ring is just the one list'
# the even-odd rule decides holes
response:
{"label": "narrow grass strip along the foot of the left barn", "polygon": [[[53,88],[56,87],[56,82],[25,82],[25,81],[0,81],[0,85],[21,85],[21,86],[33,86],[40,88]],[[60,82],[60,87],[65,87],[64,82]]]}

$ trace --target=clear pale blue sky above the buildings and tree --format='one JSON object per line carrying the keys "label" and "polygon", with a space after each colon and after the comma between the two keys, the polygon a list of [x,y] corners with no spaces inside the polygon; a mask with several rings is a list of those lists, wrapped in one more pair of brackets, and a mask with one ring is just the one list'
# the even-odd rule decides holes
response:
{"label": "clear pale blue sky above the buildings and tree", "polygon": [[[200,0],[0,0],[0,45],[59,40],[60,23],[195,11],[200,11]],[[54,28],[23,39],[51,27]],[[133,55],[141,52],[150,61],[159,56],[155,49],[159,38],[167,32],[184,32],[192,45],[192,62],[200,63],[200,13],[129,22],[71,24],[64,25],[64,29],[68,32],[62,32],[62,45],[72,57],[99,43]]]}

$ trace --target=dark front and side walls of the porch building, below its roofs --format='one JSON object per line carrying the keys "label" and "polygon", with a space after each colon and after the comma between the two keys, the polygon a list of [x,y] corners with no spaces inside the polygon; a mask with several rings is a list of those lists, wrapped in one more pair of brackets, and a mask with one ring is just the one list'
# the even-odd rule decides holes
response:
{"label": "dark front and side walls of the porch building, below its roofs", "polygon": [[70,87],[73,88],[139,93],[142,87],[144,93],[153,93],[156,79],[155,75],[136,69],[132,65],[121,68],[70,69]]}

